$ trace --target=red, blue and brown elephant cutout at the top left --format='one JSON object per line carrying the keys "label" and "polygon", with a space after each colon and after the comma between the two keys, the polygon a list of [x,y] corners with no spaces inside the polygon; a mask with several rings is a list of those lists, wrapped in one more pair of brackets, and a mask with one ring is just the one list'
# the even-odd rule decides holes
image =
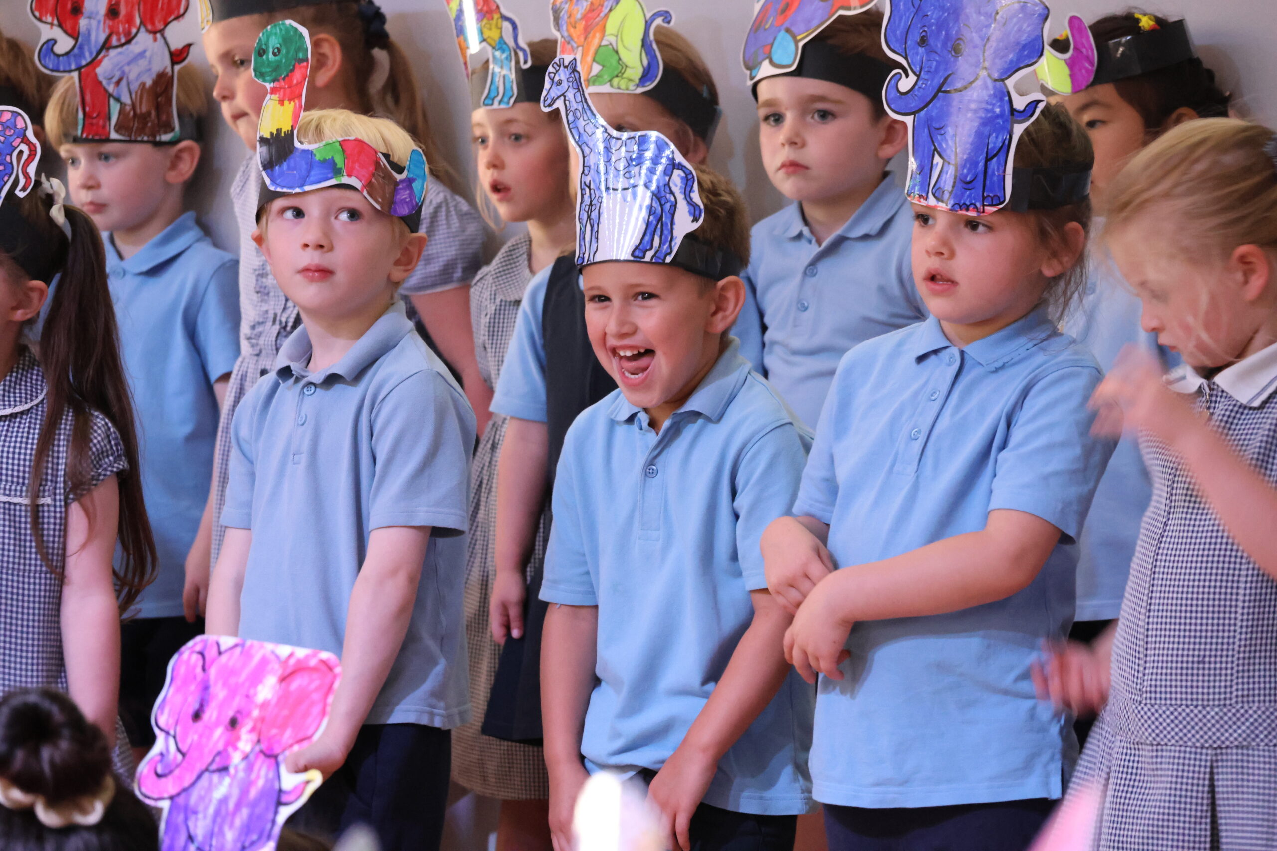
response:
{"label": "red, blue and brown elephant cutout at the top left", "polygon": [[74,74],[78,142],[178,142],[197,138],[178,120],[178,66],[190,45],[170,47],[166,29],[186,0],[32,0],[31,14],[59,31],[36,61],[50,74]]}

